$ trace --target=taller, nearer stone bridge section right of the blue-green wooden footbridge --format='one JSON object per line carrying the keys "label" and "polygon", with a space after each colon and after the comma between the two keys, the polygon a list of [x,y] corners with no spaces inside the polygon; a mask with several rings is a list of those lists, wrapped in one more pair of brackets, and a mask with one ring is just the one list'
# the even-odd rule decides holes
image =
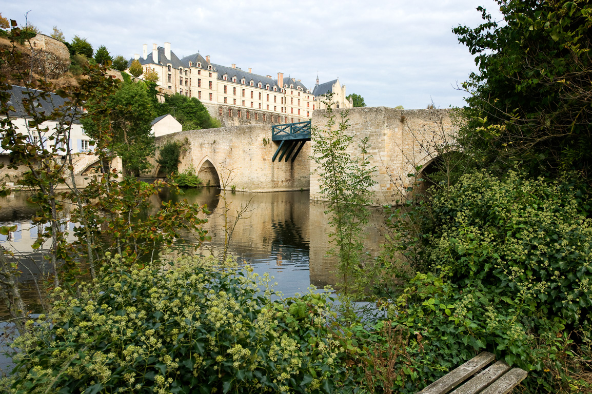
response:
{"label": "taller, nearer stone bridge section right of the blue-green wooden footbridge", "polygon": [[[353,135],[350,153],[358,154],[358,142],[369,137],[368,151],[371,166],[376,167],[373,188],[375,205],[396,204],[408,198],[407,188],[430,164],[438,159],[444,147],[452,146],[456,128],[449,109],[393,109],[384,106],[334,109],[337,127],[344,111],[348,112],[349,128]],[[312,126],[326,129],[327,111],[314,111]],[[311,141],[314,144],[314,140]],[[321,200],[316,163],[311,161],[310,198]],[[421,167],[417,172],[417,167]],[[417,174],[409,177],[409,174]],[[420,185],[420,187],[425,186]]]}

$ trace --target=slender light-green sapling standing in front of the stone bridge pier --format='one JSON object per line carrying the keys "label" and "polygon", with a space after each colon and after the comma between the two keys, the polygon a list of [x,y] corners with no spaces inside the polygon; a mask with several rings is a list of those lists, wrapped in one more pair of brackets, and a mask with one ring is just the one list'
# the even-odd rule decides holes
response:
{"label": "slender light-green sapling standing in front of the stone bridge pier", "polygon": [[353,299],[365,294],[371,275],[366,271],[368,256],[364,253],[362,230],[368,223],[368,209],[373,194],[371,188],[375,181],[370,166],[367,150],[368,137],[362,138],[353,147],[353,135],[348,133],[348,112],[341,112],[339,124],[327,99],[327,124],[324,128],[313,127],[312,160],[317,164],[319,188],[323,199],[328,201],[329,224],[333,228],[330,234],[333,248],[330,254],[339,261],[339,274],[343,282],[339,283],[343,295],[347,295],[345,307],[349,309]]}

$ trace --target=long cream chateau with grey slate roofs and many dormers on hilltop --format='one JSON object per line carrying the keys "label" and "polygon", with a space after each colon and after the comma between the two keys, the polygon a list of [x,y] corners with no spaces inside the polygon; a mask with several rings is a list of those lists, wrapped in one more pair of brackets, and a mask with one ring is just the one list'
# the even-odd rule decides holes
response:
{"label": "long cream chateau with grey slate roofs and many dormers on hilltop", "polygon": [[134,54],[134,59],[144,70],[157,72],[157,84],[165,92],[196,97],[223,126],[301,122],[310,119],[318,108],[314,94],[300,79],[284,78],[281,72],[274,79],[255,74],[250,68],[244,71],[236,64],[227,67],[212,63],[210,56],[200,53],[179,59],[170,50],[170,43],[164,47],[152,44],[150,53],[144,44],[142,56]]}

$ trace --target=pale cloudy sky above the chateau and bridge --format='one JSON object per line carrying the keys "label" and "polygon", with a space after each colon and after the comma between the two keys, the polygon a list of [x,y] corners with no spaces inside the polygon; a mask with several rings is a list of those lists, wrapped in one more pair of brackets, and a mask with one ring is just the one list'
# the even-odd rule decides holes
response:
{"label": "pale cloudy sky above the chateau and bridge", "polygon": [[300,79],[314,88],[339,78],[367,106],[406,109],[464,105],[458,86],[477,72],[474,56],[452,28],[477,27],[478,6],[501,20],[493,0],[0,0],[0,12],[50,35],[86,38],[112,56],[141,55],[142,44],[179,57]]}

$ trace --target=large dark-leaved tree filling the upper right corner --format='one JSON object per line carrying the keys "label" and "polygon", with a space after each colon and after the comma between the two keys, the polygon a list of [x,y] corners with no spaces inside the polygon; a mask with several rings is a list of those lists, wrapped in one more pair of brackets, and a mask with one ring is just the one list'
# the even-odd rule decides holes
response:
{"label": "large dark-leaved tree filling the upper right corner", "polygon": [[576,170],[592,184],[592,6],[588,1],[497,0],[504,22],[456,27],[479,72],[461,141],[486,166]]}

